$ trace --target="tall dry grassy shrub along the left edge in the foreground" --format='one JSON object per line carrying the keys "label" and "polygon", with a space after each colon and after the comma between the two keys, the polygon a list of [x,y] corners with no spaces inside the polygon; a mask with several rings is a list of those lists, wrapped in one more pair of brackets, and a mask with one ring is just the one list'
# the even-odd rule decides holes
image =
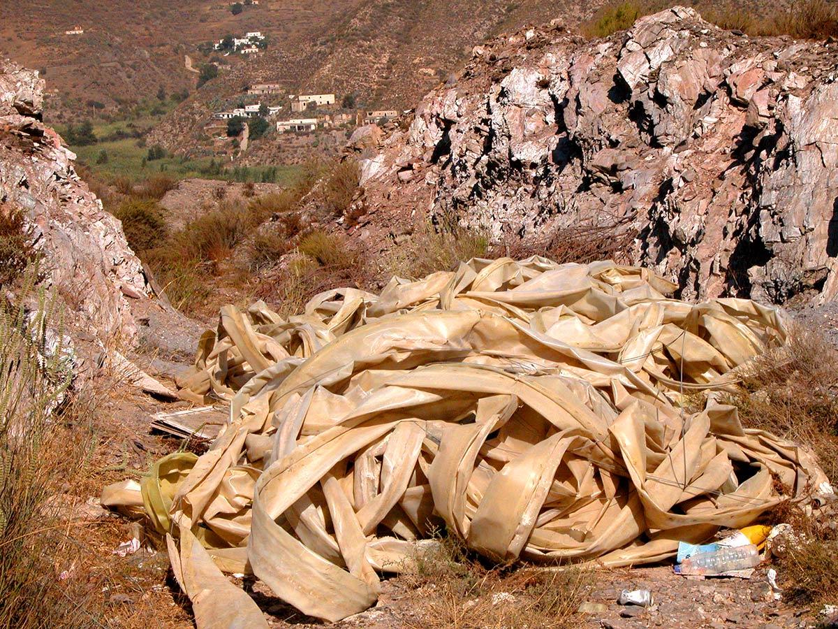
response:
{"label": "tall dry grassy shrub along the left edge in the foreground", "polygon": [[[23,294],[34,296],[31,281]],[[89,412],[70,391],[65,348],[48,349],[59,318],[44,294],[34,299],[34,319],[0,304],[0,627],[91,626],[91,591],[60,577],[81,558],[48,501],[85,461]]]}

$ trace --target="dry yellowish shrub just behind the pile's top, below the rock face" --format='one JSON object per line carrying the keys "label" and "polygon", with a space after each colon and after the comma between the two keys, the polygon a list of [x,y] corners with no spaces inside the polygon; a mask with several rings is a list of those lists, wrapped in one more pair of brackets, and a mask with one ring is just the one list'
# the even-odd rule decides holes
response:
{"label": "dry yellowish shrub just behind the pile's top, below the rock face", "polygon": [[393,247],[385,260],[385,275],[402,278],[424,278],[436,271],[450,271],[458,263],[473,257],[489,255],[489,237],[481,230],[453,226],[435,231],[423,226],[406,242]]}

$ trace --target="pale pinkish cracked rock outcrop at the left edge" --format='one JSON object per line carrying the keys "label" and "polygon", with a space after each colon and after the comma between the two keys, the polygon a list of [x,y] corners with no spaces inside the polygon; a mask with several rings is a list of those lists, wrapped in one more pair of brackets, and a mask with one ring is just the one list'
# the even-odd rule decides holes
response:
{"label": "pale pinkish cracked rock outcrop at the left edge", "polygon": [[0,60],[0,203],[23,210],[75,340],[131,340],[129,302],[147,296],[142,263],[75,173],[75,155],[40,122],[43,90],[37,72]]}

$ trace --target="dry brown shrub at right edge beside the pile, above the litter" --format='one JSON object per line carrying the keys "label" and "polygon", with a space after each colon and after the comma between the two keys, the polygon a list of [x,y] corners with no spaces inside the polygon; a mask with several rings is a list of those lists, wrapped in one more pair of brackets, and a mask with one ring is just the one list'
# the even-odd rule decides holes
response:
{"label": "dry brown shrub at right edge beside the pile, above the litter", "polygon": [[816,328],[789,325],[787,343],[741,368],[730,398],[747,428],[811,444],[830,481],[838,481],[838,351]]}

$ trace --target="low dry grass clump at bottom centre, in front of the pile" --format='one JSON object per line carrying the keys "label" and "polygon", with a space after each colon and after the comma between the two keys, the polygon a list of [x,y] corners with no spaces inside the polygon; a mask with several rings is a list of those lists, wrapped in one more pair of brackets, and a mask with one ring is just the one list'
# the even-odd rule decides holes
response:
{"label": "low dry grass clump at bottom centre, in front of the pile", "polygon": [[567,627],[581,619],[579,605],[592,587],[590,569],[486,567],[458,538],[416,557],[406,575],[423,595],[417,611],[423,627]]}

